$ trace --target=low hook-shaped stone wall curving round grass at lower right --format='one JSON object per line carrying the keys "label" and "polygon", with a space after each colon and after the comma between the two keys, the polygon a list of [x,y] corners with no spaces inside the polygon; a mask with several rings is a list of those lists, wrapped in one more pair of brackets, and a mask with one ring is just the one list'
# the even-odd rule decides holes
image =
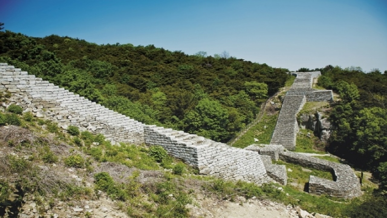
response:
{"label": "low hook-shaped stone wall curving round grass at lower right", "polygon": [[[332,172],[334,181],[310,175],[308,190],[311,194],[328,194],[334,197],[357,197],[361,195],[360,182],[353,170],[347,164],[338,164],[317,157],[310,157],[291,151],[286,151],[281,145],[253,144],[245,149],[267,155],[273,160],[282,160],[317,170]],[[267,161],[267,160],[266,160]],[[279,165],[281,166],[281,165]],[[286,171],[283,172],[286,175]],[[285,175],[281,176],[284,177]]]}

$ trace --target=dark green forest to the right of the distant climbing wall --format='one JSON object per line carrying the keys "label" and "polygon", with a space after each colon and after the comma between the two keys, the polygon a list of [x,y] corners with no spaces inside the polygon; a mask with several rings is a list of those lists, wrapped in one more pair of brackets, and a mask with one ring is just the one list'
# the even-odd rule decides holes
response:
{"label": "dark green forest to the right of the distant climbing wall", "polygon": [[328,150],[387,185],[387,72],[327,66],[319,85],[339,93],[332,109],[334,131]]}

